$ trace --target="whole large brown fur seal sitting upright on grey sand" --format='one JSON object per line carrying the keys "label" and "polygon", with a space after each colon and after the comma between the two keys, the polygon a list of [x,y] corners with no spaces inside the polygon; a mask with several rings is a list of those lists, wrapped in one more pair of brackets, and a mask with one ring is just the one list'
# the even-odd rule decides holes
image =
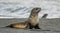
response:
{"label": "whole large brown fur seal sitting upright on grey sand", "polygon": [[6,27],[11,27],[11,28],[22,28],[22,29],[25,29],[25,28],[29,28],[29,29],[32,29],[32,28],[35,28],[35,29],[40,29],[39,27],[39,18],[38,18],[38,13],[41,11],[41,8],[33,8],[31,10],[31,14],[28,18],[27,21],[25,21],[24,23],[14,23],[14,24],[11,24],[11,25],[8,25]]}

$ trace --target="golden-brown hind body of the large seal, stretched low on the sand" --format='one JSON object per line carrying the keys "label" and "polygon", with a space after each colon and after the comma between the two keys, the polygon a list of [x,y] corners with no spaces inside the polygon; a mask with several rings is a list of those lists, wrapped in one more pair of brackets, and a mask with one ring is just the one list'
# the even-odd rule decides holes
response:
{"label": "golden-brown hind body of the large seal, stretched low on the sand", "polygon": [[17,29],[25,29],[25,28],[28,28],[28,25],[24,22],[21,22],[21,23],[10,24],[6,27],[17,28]]}

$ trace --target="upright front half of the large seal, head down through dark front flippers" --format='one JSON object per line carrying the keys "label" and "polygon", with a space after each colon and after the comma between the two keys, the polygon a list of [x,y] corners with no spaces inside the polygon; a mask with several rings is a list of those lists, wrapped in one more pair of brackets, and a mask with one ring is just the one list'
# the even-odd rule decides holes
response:
{"label": "upright front half of the large seal, head down through dark front flippers", "polygon": [[35,29],[40,29],[39,28],[39,18],[38,18],[38,13],[41,11],[41,8],[33,8],[31,11],[31,14],[28,18],[28,23],[29,23],[29,29],[35,28]]}

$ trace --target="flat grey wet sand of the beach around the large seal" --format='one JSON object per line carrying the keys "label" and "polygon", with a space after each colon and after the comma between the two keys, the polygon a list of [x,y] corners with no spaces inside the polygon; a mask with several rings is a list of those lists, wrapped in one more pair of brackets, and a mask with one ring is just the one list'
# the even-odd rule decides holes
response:
{"label": "flat grey wet sand of the beach around the large seal", "polygon": [[27,18],[0,19],[0,33],[60,33],[60,18],[40,19],[39,26],[41,29],[15,29],[5,27],[12,23],[19,23],[26,20]]}

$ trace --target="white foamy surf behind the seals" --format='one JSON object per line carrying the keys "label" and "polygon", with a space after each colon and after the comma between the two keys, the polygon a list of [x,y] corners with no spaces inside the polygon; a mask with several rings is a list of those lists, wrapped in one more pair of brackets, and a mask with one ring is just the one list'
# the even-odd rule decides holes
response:
{"label": "white foamy surf behind the seals", "polygon": [[39,18],[60,18],[60,0],[0,0],[0,18],[28,18],[34,7],[42,8]]}

